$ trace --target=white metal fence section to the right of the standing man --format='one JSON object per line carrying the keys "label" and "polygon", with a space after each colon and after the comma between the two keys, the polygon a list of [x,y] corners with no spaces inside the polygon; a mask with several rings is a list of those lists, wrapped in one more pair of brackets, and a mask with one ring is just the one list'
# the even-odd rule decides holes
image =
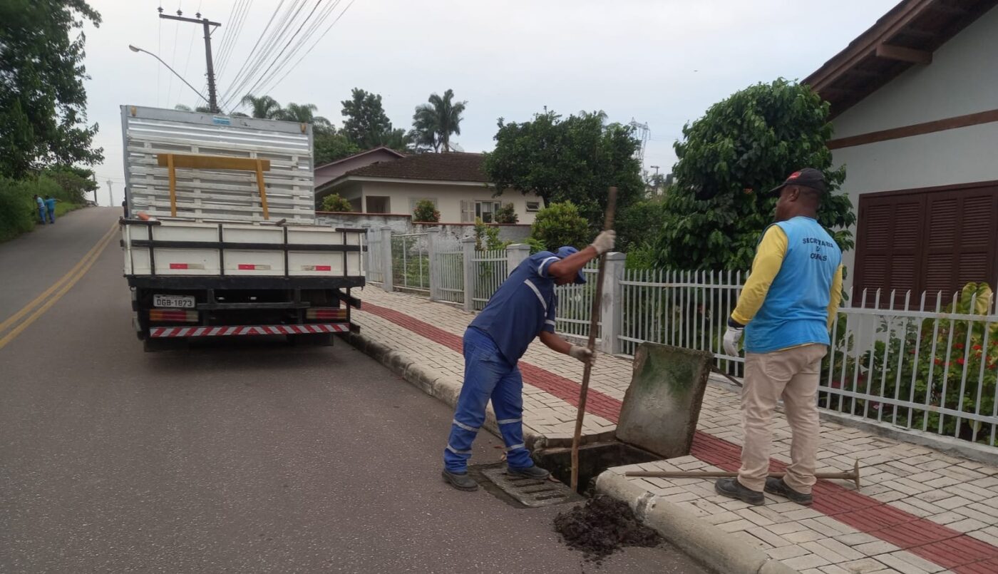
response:
{"label": "white metal fence section to the right of the standing man", "polygon": [[998,446],[996,375],[998,313],[989,290],[863,291],[832,325],[819,404]]}

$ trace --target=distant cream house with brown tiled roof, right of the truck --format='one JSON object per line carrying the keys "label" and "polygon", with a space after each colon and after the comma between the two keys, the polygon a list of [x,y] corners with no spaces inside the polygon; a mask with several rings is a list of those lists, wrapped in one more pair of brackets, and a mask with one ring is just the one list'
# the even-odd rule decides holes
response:
{"label": "distant cream house with brown tiled roof, right of the truck", "polygon": [[316,188],[316,197],[339,194],[354,212],[412,215],[416,203],[429,200],[442,223],[485,223],[501,205],[513,204],[520,224],[531,224],[544,207],[536,194],[504,190],[496,195],[482,170],[482,154],[415,154],[347,171]]}

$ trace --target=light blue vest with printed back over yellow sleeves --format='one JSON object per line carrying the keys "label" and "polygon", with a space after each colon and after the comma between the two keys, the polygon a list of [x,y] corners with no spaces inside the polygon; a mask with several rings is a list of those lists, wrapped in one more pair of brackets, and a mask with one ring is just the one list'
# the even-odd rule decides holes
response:
{"label": "light blue vest with printed back over yellow sleeves", "polygon": [[828,300],[842,252],[828,232],[810,218],[773,225],[786,234],[786,253],[762,306],[746,325],[746,351],[829,344]]}

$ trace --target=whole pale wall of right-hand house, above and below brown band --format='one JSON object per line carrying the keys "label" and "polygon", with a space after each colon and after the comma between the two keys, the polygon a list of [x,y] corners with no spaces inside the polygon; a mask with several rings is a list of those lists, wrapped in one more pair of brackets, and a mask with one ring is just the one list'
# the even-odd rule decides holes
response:
{"label": "whole pale wall of right-hand house, above and below brown band", "polygon": [[[998,109],[998,9],[832,122],[835,138],[867,134]],[[998,180],[998,123],[842,148],[842,191],[854,209],[859,196]],[[855,234],[855,228],[852,230]],[[843,256],[851,271],[855,252]],[[846,287],[851,285],[846,280]]]}

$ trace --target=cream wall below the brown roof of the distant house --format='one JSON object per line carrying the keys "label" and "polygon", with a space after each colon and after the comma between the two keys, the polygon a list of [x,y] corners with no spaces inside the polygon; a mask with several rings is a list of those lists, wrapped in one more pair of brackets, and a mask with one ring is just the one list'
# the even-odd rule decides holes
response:
{"label": "cream wall below the brown roof of the distant house", "polygon": [[527,195],[507,190],[498,198],[492,197],[492,189],[482,184],[479,186],[457,186],[446,184],[431,184],[418,181],[396,182],[349,182],[337,188],[337,193],[348,200],[357,197],[388,197],[391,200],[392,214],[412,215],[410,200],[435,199],[437,210],[440,211],[440,221],[448,224],[461,223],[461,201],[493,201],[503,204],[513,204],[521,224],[534,223],[534,213],[527,212],[527,202],[544,202],[536,194]]}

